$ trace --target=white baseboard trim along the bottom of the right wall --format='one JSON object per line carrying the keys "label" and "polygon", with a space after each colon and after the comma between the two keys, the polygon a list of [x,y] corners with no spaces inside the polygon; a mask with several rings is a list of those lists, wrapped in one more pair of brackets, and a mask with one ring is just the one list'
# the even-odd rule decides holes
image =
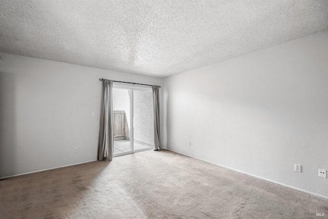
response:
{"label": "white baseboard trim along the bottom of the right wall", "polygon": [[174,151],[174,150],[171,150],[171,149],[168,149],[168,148],[163,148],[163,149],[166,149],[166,150],[169,150],[169,151],[172,151],[172,152],[175,152],[175,153],[179,153],[179,154],[182,154],[182,155],[185,155],[185,156],[189,156],[189,157],[195,158],[195,159],[197,159],[197,160],[204,161],[204,162],[207,162],[207,163],[210,163],[210,164],[214,164],[214,165],[219,166],[219,167],[227,168],[227,169],[230,169],[230,170],[233,170],[233,171],[239,172],[239,173],[244,173],[244,174],[246,174],[246,175],[250,175],[250,176],[253,176],[253,177],[259,178],[260,180],[268,181],[268,182],[271,182],[271,183],[274,183],[274,184],[278,184],[278,185],[280,185],[280,186],[284,186],[284,187],[288,187],[288,188],[291,188],[291,189],[295,189],[295,190],[298,190],[298,191],[301,191],[301,192],[305,192],[305,193],[308,193],[308,194],[311,194],[311,195],[313,195],[313,196],[317,196],[317,197],[320,197],[320,198],[325,198],[325,199],[328,200],[328,197],[323,196],[323,195],[320,195],[320,194],[317,194],[317,193],[313,193],[313,192],[310,192],[310,191],[306,191],[306,190],[303,190],[303,189],[299,189],[299,188],[296,188],[296,187],[293,187],[293,186],[289,186],[289,185],[286,185],[286,184],[283,184],[283,183],[278,183],[278,182],[276,182],[276,181],[269,180],[268,178],[263,178],[263,177],[261,177],[261,176],[253,175],[253,174],[251,174],[251,173],[243,172],[243,171],[240,171],[240,170],[237,170],[237,169],[231,168],[231,167],[226,167],[226,166],[223,166],[223,165],[220,165],[220,164],[216,164],[216,163],[213,163],[213,162],[210,162],[210,161],[207,161],[207,160],[203,160],[203,159],[201,159],[201,158],[198,158],[198,157],[195,157],[195,156],[191,156],[191,155],[188,155],[188,154],[185,154],[185,153],[181,153],[181,152],[178,152],[178,151]]}

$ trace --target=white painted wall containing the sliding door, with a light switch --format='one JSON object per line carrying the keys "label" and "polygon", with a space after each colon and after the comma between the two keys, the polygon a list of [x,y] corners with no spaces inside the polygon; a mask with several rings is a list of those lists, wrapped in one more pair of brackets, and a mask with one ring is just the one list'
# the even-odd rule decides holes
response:
{"label": "white painted wall containing the sliding door, with a light switch", "polygon": [[161,83],[159,78],[45,59],[0,57],[0,177],[96,160],[99,78]]}

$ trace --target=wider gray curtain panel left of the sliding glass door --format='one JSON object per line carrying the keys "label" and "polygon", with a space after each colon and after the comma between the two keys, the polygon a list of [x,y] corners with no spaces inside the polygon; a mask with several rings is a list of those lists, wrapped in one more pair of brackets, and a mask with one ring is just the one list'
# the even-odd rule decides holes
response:
{"label": "wider gray curtain panel left of the sliding glass door", "polygon": [[98,161],[111,161],[113,151],[113,81],[104,79],[103,98],[100,109]]}

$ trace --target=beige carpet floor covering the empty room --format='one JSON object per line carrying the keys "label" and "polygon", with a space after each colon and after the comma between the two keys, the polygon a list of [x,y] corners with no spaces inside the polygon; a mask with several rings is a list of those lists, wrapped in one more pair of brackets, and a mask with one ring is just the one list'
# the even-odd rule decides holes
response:
{"label": "beige carpet floor covering the empty room", "polygon": [[[324,211],[316,216],[315,210]],[[1,218],[327,218],[328,201],[167,150],[0,181]]]}

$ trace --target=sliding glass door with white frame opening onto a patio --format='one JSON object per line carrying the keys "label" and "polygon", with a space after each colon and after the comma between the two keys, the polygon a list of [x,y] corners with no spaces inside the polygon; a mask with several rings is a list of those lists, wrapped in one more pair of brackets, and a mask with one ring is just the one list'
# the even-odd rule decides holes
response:
{"label": "sliding glass door with white frame opening onto a patio", "polygon": [[153,149],[152,89],[114,84],[113,121],[114,156]]}

